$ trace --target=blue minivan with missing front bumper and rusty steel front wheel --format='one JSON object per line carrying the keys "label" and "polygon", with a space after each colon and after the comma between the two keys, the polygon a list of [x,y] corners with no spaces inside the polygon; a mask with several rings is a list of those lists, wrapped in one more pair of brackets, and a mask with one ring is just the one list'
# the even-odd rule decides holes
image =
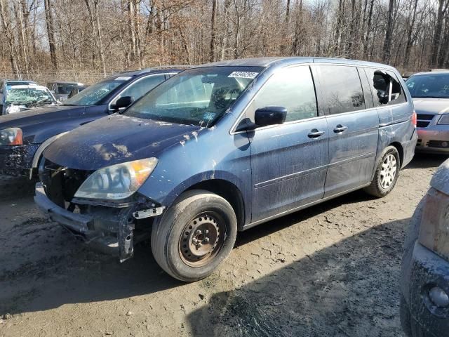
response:
{"label": "blue minivan with missing front bumper and rusty steel front wheel", "polygon": [[238,231],[365,188],[388,194],[417,141],[387,65],[254,58],[171,77],[43,153],[36,204],[121,261],[151,237],[183,281],[210,275]]}

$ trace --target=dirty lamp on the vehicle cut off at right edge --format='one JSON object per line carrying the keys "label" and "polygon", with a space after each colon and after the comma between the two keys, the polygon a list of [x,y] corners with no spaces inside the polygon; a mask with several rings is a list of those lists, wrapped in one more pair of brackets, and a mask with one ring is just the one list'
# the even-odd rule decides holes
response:
{"label": "dirty lamp on the vehicle cut off at right edge", "polygon": [[449,259],[449,196],[434,188],[424,201],[419,242]]}

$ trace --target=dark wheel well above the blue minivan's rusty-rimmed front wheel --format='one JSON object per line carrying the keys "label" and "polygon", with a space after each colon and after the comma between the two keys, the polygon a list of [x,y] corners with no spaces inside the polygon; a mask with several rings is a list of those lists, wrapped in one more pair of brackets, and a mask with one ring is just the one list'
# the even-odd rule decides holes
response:
{"label": "dark wheel well above the blue minivan's rusty-rimmed front wheel", "polygon": [[237,225],[239,230],[242,230],[243,225],[245,224],[245,205],[243,204],[241,192],[236,185],[229,183],[227,180],[213,179],[201,181],[201,183],[189,187],[188,190],[206,190],[225,198],[234,209]]}

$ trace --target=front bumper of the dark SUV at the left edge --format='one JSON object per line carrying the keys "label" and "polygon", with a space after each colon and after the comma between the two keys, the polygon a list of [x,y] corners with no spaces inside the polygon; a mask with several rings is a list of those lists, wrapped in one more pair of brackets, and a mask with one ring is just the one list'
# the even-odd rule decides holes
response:
{"label": "front bumper of the dark SUV at the left edge", "polygon": [[28,176],[39,144],[0,146],[0,173],[8,176]]}

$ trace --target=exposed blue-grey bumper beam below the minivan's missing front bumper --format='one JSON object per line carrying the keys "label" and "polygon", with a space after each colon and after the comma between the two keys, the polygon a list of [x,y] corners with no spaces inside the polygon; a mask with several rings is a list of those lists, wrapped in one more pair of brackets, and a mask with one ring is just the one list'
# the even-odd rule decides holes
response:
{"label": "exposed blue-grey bumper beam below the minivan's missing front bumper", "polygon": [[119,222],[114,224],[114,222],[109,222],[107,217],[98,218],[89,214],[67,211],[48,199],[41,183],[36,184],[34,202],[48,218],[65,227],[76,237],[83,239],[94,249],[119,256],[121,260],[130,257],[124,253],[129,249],[126,250],[126,247],[119,245]]}

